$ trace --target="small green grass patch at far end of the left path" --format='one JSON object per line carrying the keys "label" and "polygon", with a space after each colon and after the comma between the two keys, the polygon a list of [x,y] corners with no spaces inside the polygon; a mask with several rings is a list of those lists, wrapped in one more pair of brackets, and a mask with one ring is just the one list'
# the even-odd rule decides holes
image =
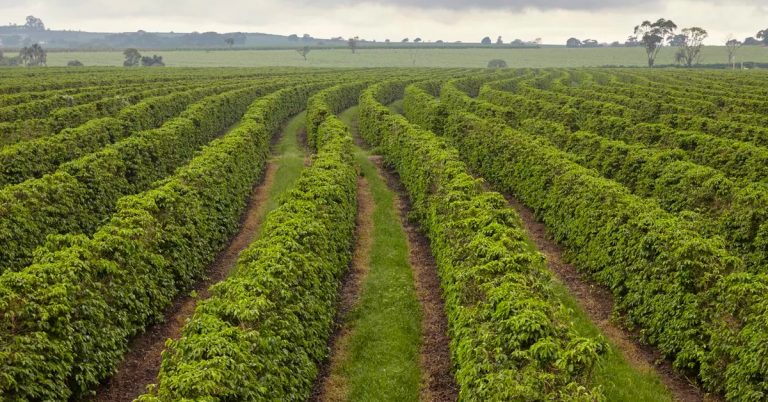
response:
{"label": "small green grass patch at far end of the left path", "polygon": [[265,215],[277,208],[280,196],[293,187],[296,179],[304,170],[304,158],[306,152],[299,143],[299,132],[304,129],[306,112],[293,117],[283,129],[283,137],[275,146],[273,160],[277,165],[275,178],[270,187],[267,198]]}

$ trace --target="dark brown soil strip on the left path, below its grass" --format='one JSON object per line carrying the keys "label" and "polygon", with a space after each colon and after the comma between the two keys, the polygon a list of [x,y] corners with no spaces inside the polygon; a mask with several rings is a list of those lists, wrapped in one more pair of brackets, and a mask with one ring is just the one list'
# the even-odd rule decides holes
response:
{"label": "dark brown soil strip on the left path, below its grass", "polygon": [[[278,137],[278,136],[276,136]],[[129,352],[118,367],[117,373],[103,384],[92,399],[96,402],[129,402],[146,392],[146,386],[157,380],[162,361],[161,353],[168,338],[178,339],[187,319],[192,316],[198,300],[210,296],[208,288],[224,280],[234,268],[240,252],[258,235],[264,219],[269,190],[275,178],[277,165],[274,159],[267,162],[264,179],[251,192],[248,207],[241,218],[240,232],[232,239],[226,250],[221,252],[208,267],[207,277],[198,282],[192,292],[180,294],[165,311],[166,320],[148,328],[133,339]]]}

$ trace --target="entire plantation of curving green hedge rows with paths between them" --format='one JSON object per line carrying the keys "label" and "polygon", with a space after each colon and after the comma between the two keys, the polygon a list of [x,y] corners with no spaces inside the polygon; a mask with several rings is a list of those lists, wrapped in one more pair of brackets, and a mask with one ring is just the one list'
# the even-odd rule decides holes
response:
{"label": "entire plantation of curving green hedge rows with paths between them", "polygon": [[768,74],[323,52],[4,71],[0,400],[768,398]]}

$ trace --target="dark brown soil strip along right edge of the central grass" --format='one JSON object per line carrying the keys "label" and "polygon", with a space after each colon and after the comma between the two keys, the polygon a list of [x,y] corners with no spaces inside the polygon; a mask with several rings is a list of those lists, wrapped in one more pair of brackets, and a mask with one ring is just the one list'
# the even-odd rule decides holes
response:
{"label": "dark brown soil strip along right edge of the central grass", "polygon": [[429,240],[418,226],[408,219],[410,201],[397,174],[383,165],[381,157],[370,158],[379,175],[395,193],[395,207],[408,239],[410,263],[416,282],[416,295],[422,308],[422,344],[420,365],[422,370],[421,401],[449,402],[458,399],[458,386],[451,363],[448,319],[442,299],[437,263],[432,256]]}

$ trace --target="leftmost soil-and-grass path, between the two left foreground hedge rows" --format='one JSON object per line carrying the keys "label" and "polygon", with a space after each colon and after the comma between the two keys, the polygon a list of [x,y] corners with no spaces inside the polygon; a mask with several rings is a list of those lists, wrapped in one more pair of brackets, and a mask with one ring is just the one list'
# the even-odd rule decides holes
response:
{"label": "leftmost soil-and-grass path, between the two left foreground hedge rows", "polygon": [[264,179],[253,189],[248,200],[240,231],[208,267],[207,277],[199,281],[191,292],[175,298],[165,311],[164,322],[147,328],[145,333],[131,341],[130,349],[117,373],[96,391],[92,401],[133,401],[146,391],[148,384],[156,382],[165,341],[168,338],[179,338],[197,302],[209,297],[208,288],[232,273],[240,252],[258,236],[266,214],[275,208],[276,200],[293,185],[301,173],[304,151],[298,137],[302,127],[304,113],[292,118],[283,128],[280,141],[273,147],[273,157],[265,167]]}

